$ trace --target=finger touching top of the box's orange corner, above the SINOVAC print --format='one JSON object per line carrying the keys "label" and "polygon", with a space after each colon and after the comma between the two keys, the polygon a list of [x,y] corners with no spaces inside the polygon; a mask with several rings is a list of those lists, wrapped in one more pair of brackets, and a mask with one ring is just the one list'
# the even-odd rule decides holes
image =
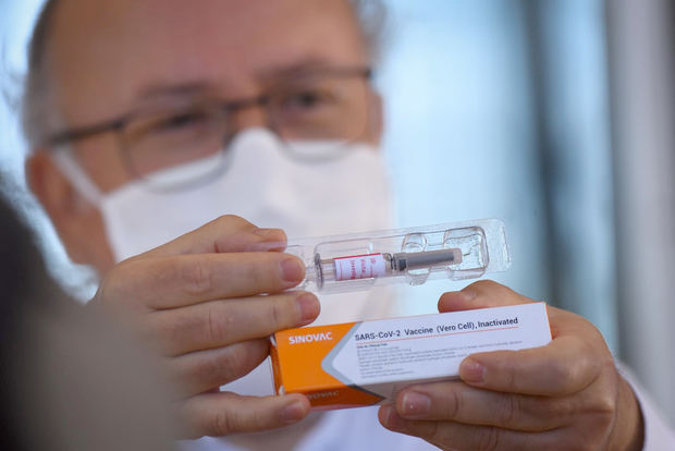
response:
{"label": "finger touching top of the box's orange corner, above the SINOVAC print", "polygon": [[155,312],[149,315],[148,328],[161,340],[159,345],[165,355],[180,355],[305,326],[320,310],[317,296],[292,291]]}

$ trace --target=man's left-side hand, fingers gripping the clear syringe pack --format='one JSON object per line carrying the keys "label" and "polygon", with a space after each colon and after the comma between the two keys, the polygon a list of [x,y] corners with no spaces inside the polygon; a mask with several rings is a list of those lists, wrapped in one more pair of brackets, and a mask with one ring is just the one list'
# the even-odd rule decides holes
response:
{"label": "man's left-side hand, fingers gripping the clear syringe pack", "polygon": [[187,426],[180,438],[281,427],[309,412],[300,394],[218,391],[267,357],[270,334],[319,314],[315,295],[284,292],[305,275],[299,258],[266,248],[279,242],[281,251],[285,240],[281,230],[222,217],[122,261],[101,282],[93,303],[122,307],[176,382],[177,416]]}

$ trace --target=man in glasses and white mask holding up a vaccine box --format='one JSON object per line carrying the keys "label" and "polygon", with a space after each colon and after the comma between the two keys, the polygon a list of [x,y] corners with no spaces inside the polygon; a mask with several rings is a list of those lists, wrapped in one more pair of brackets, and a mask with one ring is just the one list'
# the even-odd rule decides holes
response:
{"label": "man in glasses and white mask holding up a vaccine box", "polygon": [[[261,252],[283,248],[282,231],[223,217],[113,267],[223,214],[294,236],[385,227],[365,32],[345,0],[60,0],[38,24],[27,173],[71,257],[103,276],[96,302],[126,307],[156,343],[183,390],[189,437],[284,427],[201,444],[431,447],[386,432],[372,410],[297,423],[300,395],[218,392],[236,381],[260,394],[243,376],[266,357],[266,338],[319,314],[316,296],[284,291],[302,263]],[[322,300],[320,319],[378,305],[348,302]],[[439,306],[520,302],[479,282]],[[550,345],[469,357],[463,381],[404,390],[380,420],[443,449],[640,449],[640,409],[600,333],[554,308],[551,324]]]}

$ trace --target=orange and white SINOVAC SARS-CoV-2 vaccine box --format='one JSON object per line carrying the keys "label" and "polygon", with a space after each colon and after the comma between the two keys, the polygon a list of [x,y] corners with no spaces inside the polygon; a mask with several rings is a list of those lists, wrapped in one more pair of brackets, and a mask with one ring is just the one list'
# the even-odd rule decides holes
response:
{"label": "orange and white SINOVAC SARS-CoV-2 vaccine box", "polygon": [[277,332],[277,393],[303,393],[312,409],[393,400],[404,387],[453,379],[469,354],[545,345],[545,303],[345,322]]}

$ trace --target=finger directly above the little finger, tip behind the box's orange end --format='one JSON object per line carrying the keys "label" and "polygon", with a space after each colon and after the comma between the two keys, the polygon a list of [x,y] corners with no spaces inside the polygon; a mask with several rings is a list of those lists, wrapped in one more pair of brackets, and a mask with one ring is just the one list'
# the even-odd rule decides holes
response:
{"label": "finger directly above the little finger, tip behind the box's orange end", "polygon": [[268,355],[267,339],[249,340],[169,358],[168,374],[175,381],[179,395],[187,398],[246,376]]}

